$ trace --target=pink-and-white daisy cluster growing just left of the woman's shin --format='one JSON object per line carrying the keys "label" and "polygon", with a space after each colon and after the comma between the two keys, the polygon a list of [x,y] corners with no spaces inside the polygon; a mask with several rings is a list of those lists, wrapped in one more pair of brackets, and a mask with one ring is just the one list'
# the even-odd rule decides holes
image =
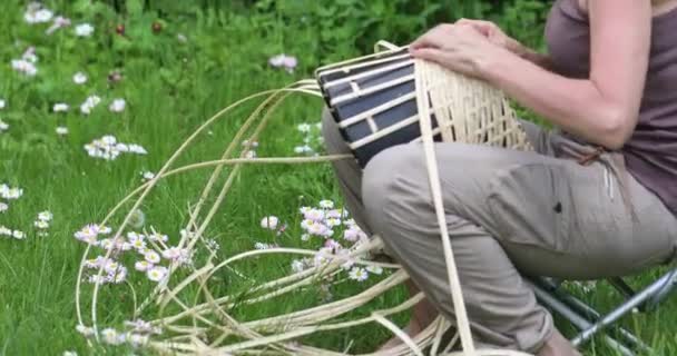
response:
{"label": "pink-and-white daisy cluster growing just left of the woman's shin", "polygon": [[[355,220],[350,218],[346,210],[335,208],[334,201],[321,200],[316,207],[301,207],[300,214],[302,215],[301,228],[303,230],[301,239],[303,241],[322,239],[323,246],[312,258],[294,259],[292,261],[293,271],[298,273],[338,258],[343,261],[341,267],[347,271],[347,277],[353,280],[363,281],[369,278],[370,274],[380,275],[383,273],[383,269],[377,266],[366,268],[355,266],[355,261],[350,257],[350,254],[360,244],[367,241],[369,237]],[[261,220],[261,227],[279,231],[279,219],[275,216],[264,217]],[[254,247],[266,249],[277,247],[277,245],[256,243]]]}

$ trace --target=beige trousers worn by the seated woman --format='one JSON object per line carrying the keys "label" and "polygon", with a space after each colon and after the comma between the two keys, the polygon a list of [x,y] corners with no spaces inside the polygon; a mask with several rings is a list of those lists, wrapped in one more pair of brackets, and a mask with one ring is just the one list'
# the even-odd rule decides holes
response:
{"label": "beige trousers worn by the seated woman", "polygon": [[[489,347],[534,353],[552,332],[522,275],[593,279],[628,275],[675,256],[677,219],[649,190],[619,179],[610,154],[524,122],[536,152],[435,144],[450,239],[471,327]],[[330,154],[350,152],[325,111]],[[357,224],[445,317],[453,310],[421,145],[389,148],[362,170],[334,164]],[[624,204],[622,190],[627,192]]]}

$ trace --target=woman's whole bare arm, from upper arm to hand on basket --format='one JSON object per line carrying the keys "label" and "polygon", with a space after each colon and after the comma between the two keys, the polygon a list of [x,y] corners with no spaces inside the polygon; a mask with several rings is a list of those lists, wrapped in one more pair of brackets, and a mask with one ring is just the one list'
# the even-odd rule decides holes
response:
{"label": "woman's whole bare arm, from upper arm to hand on basket", "polygon": [[[649,1],[590,1],[590,76],[570,79],[445,27],[412,43],[416,57],[481,77],[552,123],[590,142],[618,149],[637,125],[648,68]],[[462,33],[461,33],[462,32]]]}

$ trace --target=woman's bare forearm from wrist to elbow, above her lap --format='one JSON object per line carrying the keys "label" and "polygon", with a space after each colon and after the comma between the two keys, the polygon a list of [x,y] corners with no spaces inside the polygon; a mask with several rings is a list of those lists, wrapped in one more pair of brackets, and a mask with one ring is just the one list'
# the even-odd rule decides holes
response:
{"label": "woman's bare forearm from wrist to elbow, above her lap", "polygon": [[509,97],[590,142],[619,148],[631,131],[619,125],[626,113],[606,100],[591,80],[566,78],[509,53],[488,60],[480,71]]}

